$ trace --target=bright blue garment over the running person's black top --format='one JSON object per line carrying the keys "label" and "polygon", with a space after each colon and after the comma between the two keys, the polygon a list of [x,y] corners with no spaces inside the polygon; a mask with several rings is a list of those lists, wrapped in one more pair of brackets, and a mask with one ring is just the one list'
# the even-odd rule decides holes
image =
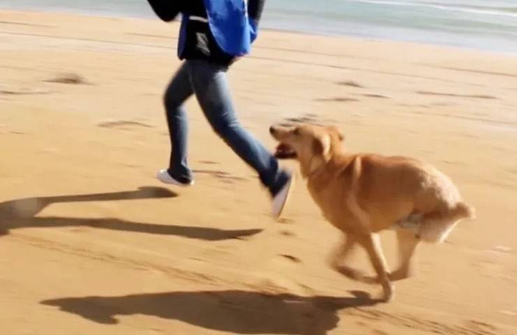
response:
{"label": "bright blue garment over the running person's black top", "polygon": [[[252,49],[257,36],[256,21],[248,16],[246,0],[204,0],[210,31],[221,50],[232,56],[244,56]],[[181,52],[189,15],[183,15],[180,28]]]}

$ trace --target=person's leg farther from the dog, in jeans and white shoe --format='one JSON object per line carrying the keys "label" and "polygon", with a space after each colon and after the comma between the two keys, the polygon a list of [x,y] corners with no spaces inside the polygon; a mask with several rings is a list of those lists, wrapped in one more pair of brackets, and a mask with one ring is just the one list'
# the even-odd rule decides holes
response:
{"label": "person's leg farther from the dog, in jeans and white shoe", "polygon": [[[163,103],[166,109],[167,124],[170,136],[170,162],[167,170],[161,170],[158,177],[169,184],[192,184],[192,172],[187,162],[187,111],[183,103],[194,93],[189,79],[187,63],[184,62],[170,81]],[[168,175],[173,179],[169,179]]]}

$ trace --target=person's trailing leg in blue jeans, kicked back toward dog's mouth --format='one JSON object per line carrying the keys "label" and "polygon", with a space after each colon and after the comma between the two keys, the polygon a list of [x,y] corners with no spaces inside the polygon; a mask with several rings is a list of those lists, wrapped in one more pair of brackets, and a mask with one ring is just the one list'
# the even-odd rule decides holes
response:
{"label": "person's trailing leg in blue jeans, kicked back toward dog's mouth", "polygon": [[275,197],[291,182],[291,174],[281,170],[277,158],[240,125],[233,110],[226,68],[206,61],[187,63],[194,93],[212,128],[258,172],[262,184]]}

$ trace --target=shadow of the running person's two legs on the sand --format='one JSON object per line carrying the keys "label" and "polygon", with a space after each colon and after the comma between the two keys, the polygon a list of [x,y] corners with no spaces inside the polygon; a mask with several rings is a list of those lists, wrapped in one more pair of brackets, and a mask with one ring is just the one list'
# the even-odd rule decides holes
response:
{"label": "shadow of the running person's two legs on the sand", "polygon": [[109,230],[123,230],[126,232],[140,232],[147,234],[163,234],[203,239],[206,241],[220,241],[223,239],[242,239],[258,234],[260,229],[248,230],[221,230],[183,225],[157,225],[120,220],[118,218],[68,218],[36,216],[45,207],[57,202],[89,202],[136,199],[174,198],[177,194],[166,188],[141,187],[136,191],[96,193],[87,195],[62,195],[56,197],[25,198],[0,203],[0,237],[10,230],[17,228],[50,228],[82,226]]}

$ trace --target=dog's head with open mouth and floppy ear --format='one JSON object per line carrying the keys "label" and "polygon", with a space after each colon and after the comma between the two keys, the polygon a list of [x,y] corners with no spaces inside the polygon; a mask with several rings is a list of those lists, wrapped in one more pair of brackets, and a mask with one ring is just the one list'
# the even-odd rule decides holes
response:
{"label": "dog's head with open mouth and floppy ear", "polygon": [[344,140],[342,133],[333,126],[271,126],[270,133],[279,142],[275,156],[296,158],[304,177],[330,161],[341,150]]}

